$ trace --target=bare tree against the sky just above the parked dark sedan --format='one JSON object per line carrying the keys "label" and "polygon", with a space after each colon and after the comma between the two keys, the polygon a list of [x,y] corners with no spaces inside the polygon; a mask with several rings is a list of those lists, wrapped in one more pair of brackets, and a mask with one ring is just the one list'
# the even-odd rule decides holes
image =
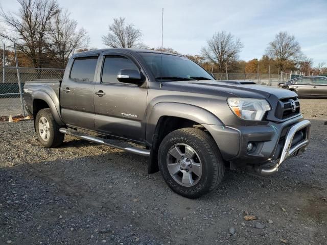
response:
{"label": "bare tree against the sky just above the parked dark sedan", "polygon": [[278,62],[281,71],[284,70],[287,63],[296,63],[302,57],[301,47],[293,35],[287,32],[279,32],[275,39],[269,43],[267,54]]}

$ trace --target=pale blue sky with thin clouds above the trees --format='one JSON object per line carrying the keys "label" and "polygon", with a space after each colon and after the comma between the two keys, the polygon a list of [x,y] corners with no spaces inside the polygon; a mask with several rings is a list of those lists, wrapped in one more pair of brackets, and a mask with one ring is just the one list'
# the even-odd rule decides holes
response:
{"label": "pale blue sky with thin clouds above the trees", "polygon": [[[0,0],[5,11],[17,12],[14,0]],[[302,52],[327,64],[327,0],[58,0],[85,28],[90,47],[105,48],[102,35],[113,18],[125,17],[143,32],[143,42],[161,45],[164,8],[164,47],[182,54],[200,54],[215,32],[230,32],[244,44],[242,60],[260,59],[280,31],[295,36]]]}

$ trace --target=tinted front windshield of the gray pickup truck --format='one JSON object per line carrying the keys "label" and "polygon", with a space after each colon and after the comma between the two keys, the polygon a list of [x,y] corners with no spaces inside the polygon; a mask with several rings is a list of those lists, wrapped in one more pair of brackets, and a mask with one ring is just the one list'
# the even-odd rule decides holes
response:
{"label": "tinted front windshield of the gray pickup truck", "polygon": [[139,55],[151,69],[156,81],[214,80],[206,70],[188,58],[162,54],[161,73],[161,54],[140,52]]}

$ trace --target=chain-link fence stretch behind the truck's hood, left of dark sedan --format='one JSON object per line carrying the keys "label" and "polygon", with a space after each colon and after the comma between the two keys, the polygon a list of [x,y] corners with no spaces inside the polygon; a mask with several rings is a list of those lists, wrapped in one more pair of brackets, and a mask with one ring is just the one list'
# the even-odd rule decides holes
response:
{"label": "chain-link fence stretch behind the truck's hood, left of dark sedan", "polygon": [[291,74],[284,72],[282,74],[213,73],[213,75],[217,80],[246,80],[274,87],[277,87],[278,83],[291,79]]}

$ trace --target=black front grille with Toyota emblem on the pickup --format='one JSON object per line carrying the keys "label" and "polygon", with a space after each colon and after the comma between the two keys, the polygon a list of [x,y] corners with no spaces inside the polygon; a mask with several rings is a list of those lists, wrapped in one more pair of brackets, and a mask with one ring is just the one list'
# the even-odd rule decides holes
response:
{"label": "black front grille with Toyota emblem on the pickup", "polygon": [[[295,102],[295,110],[292,109],[292,101]],[[297,97],[284,98],[278,101],[275,111],[275,117],[278,119],[287,119],[300,113],[300,102]]]}

